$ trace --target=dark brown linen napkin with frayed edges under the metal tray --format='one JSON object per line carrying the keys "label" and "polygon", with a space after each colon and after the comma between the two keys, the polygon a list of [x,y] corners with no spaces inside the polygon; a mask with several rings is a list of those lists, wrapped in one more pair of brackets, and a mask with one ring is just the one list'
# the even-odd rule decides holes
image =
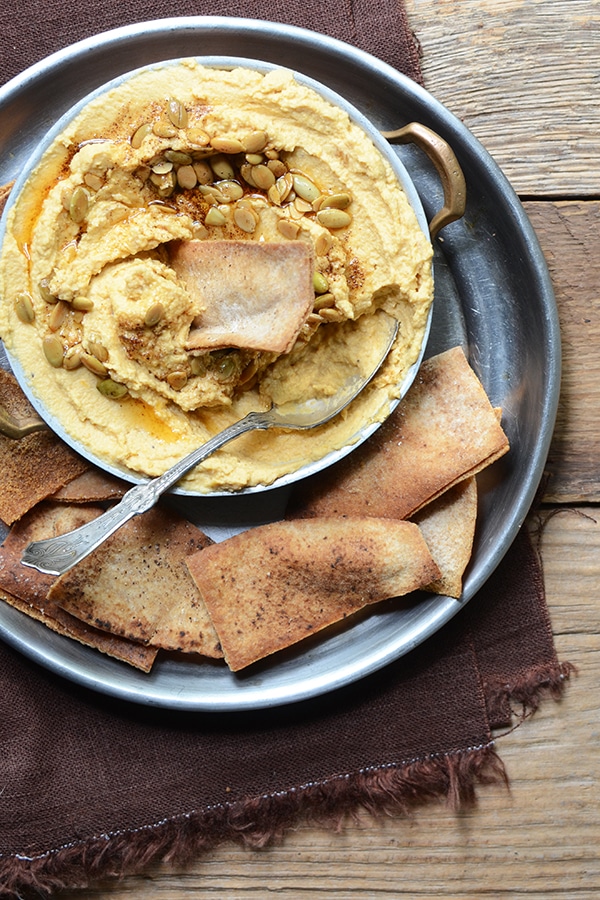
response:
{"label": "dark brown linen napkin with frayed edges under the metal tray", "polygon": [[[280,19],[357,44],[421,80],[400,0],[180,2],[180,14]],[[0,76],[90,33],[164,15],[157,2],[24,0],[5,21]],[[93,27],[90,25],[93,23]],[[182,862],[225,840],[263,846],[300,817],[454,807],[505,778],[492,729],[511,701],[558,696],[539,562],[519,536],[438,635],[333,695],[255,713],[146,709],[84,690],[0,645],[0,895],[45,896]]]}

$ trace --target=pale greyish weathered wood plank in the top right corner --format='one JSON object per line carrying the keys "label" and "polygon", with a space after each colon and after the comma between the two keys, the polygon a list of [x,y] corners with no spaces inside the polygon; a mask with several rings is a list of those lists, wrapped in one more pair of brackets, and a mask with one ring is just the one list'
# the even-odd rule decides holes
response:
{"label": "pale greyish weathered wood plank in the top right corner", "polygon": [[599,0],[406,0],[425,86],[520,194],[597,197]]}

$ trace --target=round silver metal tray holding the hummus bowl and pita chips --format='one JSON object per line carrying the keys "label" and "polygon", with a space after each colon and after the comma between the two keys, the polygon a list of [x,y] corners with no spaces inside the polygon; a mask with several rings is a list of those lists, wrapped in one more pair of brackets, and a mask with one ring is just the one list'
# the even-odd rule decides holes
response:
{"label": "round silver metal tray holding the hummus bowl and pita chips", "polygon": [[[53,54],[0,88],[0,183],[83,95],[138,66],[182,56],[265,60],[322,82],[382,131],[418,121],[454,149],[467,210],[435,242],[436,300],[427,356],[460,344],[492,403],[503,409],[511,451],[482,482],[473,559],[460,601],[419,595],[382,605],[245,674],[195,659],[159,657],[144,675],[0,604],[0,636],[52,671],[103,693],[190,711],[251,710],[347,685],[395,660],[448,622],[494,571],[531,505],[552,436],[560,387],[560,336],[552,285],[535,234],[510,184],[464,125],[427,91],[360,50],[303,29],[249,19],[192,17],[106,32]],[[429,217],[441,187],[415,146],[395,148]],[[279,518],[286,488],[246,497],[173,503],[208,534]]]}

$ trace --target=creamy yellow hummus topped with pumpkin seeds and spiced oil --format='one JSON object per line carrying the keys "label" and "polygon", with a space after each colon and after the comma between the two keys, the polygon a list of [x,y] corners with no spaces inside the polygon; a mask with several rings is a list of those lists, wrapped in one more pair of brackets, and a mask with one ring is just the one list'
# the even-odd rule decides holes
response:
{"label": "creamy yellow hummus topped with pumpkin seeds and spiced oil", "polygon": [[[244,339],[244,315],[257,329],[252,296],[207,342],[221,274],[207,299],[181,266],[212,241],[308,251],[297,277],[310,298],[301,305],[303,283],[283,352]],[[287,70],[184,60],[93,99],[46,150],[8,213],[0,335],[67,434],[112,466],[157,475],[250,410],[330,393],[344,368],[368,372],[380,311],[397,318],[389,359],[345,415],[245,435],[182,486],[269,484],[385,417],[419,355],[431,255],[389,162],[344,111]],[[198,258],[210,266],[215,254]]]}

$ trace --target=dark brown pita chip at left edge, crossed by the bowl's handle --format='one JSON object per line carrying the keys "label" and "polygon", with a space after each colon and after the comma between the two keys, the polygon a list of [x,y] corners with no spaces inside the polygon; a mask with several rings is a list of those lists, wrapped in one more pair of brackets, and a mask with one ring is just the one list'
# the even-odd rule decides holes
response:
{"label": "dark brown pita chip at left edge, crossed by the bowl's handle", "polygon": [[[0,403],[18,421],[35,415],[15,377],[4,369],[0,369]],[[0,518],[12,525],[88,467],[49,430],[19,440],[0,435]]]}

